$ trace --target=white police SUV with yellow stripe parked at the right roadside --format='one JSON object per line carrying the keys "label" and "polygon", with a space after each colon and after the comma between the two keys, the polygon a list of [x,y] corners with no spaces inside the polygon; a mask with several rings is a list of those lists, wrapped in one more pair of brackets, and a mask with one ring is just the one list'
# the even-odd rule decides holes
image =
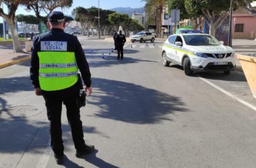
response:
{"label": "white police SUV with yellow stripe parked at the right roadside", "polygon": [[163,44],[162,62],[183,66],[186,75],[193,72],[235,70],[235,51],[208,34],[186,33],[171,35]]}

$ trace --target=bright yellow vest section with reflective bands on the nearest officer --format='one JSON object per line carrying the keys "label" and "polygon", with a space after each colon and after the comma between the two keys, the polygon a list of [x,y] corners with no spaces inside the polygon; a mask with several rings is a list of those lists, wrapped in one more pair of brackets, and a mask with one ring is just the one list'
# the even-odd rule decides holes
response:
{"label": "bright yellow vest section with reflective bands on the nearest officer", "polygon": [[77,82],[78,67],[75,52],[41,50],[37,54],[41,90],[63,90]]}

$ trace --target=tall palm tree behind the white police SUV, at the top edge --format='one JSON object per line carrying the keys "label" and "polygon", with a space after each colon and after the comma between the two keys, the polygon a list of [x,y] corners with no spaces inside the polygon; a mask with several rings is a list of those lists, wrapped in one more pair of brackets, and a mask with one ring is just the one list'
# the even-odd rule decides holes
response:
{"label": "tall palm tree behind the white police SUV, at the top edge", "polygon": [[145,1],[145,13],[149,21],[157,25],[157,37],[161,35],[163,7],[166,7],[168,0],[142,0]]}

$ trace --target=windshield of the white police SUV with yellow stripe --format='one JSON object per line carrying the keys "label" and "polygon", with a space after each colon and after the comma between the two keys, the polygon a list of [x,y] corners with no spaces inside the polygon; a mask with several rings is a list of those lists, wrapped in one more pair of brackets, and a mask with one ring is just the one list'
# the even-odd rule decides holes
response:
{"label": "windshield of the white police SUV with yellow stripe", "polygon": [[183,35],[183,38],[185,43],[191,46],[221,45],[221,43],[211,35]]}

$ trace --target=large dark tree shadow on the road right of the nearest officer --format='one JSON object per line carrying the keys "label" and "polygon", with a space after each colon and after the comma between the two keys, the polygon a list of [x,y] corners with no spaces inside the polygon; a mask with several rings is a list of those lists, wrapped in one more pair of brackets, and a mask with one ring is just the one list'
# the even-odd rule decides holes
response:
{"label": "large dark tree shadow on the road right of the nearest officer", "polygon": [[181,98],[136,84],[93,78],[95,88],[89,104],[99,106],[96,116],[134,124],[172,121],[169,114],[188,112]]}

